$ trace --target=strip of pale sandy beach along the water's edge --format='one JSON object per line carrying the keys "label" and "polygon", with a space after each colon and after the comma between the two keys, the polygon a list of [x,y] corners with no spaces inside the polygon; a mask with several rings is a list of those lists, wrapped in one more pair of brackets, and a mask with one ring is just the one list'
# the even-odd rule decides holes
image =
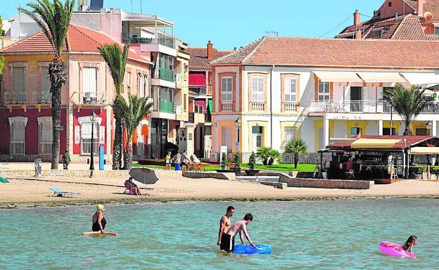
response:
{"label": "strip of pale sandy beach along the water's edge", "polygon": [[[370,197],[439,197],[439,181],[397,181],[390,185],[374,185],[369,190],[324,188],[277,189],[255,182],[217,179],[189,179],[157,171],[160,180],[147,186],[139,184],[146,195],[125,195],[125,179],[28,177],[10,178],[0,184],[0,207],[76,205],[89,203],[132,203],[170,200],[294,200]],[[53,197],[51,187],[80,194],[74,198]]]}

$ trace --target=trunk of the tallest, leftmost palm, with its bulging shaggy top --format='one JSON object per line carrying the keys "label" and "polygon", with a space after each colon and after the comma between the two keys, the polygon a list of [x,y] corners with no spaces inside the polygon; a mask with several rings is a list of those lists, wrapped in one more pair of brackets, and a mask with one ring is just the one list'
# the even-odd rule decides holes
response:
{"label": "trunk of the tallest, leftmost palm, with its bulging shaggy top", "polygon": [[60,127],[61,127],[61,89],[67,82],[68,68],[61,58],[53,58],[49,65],[49,77],[52,93],[52,159],[51,169],[58,169],[60,153]]}

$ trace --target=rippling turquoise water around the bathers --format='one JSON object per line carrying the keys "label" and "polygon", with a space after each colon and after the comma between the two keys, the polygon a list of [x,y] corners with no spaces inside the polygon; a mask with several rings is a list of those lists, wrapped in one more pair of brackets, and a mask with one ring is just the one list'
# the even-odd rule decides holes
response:
{"label": "rippling turquoise water around the bathers", "polygon": [[[272,255],[225,255],[217,229],[252,212],[253,241]],[[107,230],[81,236],[94,207],[0,210],[0,269],[437,269],[439,200],[332,200],[106,205]],[[417,259],[386,257],[381,240],[418,236]]]}

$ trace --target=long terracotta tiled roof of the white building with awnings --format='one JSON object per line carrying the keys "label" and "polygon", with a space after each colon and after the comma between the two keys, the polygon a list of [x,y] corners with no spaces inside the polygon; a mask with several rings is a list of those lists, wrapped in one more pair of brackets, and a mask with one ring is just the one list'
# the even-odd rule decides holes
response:
{"label": "long terracotta tiled roof of the white building with awnings", "polygon": [[438,41],[264,37],[212,65],[438,68]]}

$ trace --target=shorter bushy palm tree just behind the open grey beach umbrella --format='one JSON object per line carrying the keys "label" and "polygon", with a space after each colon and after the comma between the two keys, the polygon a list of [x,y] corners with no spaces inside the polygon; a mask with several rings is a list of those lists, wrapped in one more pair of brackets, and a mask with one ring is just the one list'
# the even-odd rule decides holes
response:
{"label": "shorter bushy palm tree just behind the open grey beach umbrella", "polygon": [[128,94],[128,102],[120,95],[117,96],[117,100],[120,103],[120,107],[115,108],[115,105],[113,104],[113,110],[119,110],[118,113],[122,115],[122,122],[127,128],[127,146],[125,146],[124,152],[124,168],[131,169],[133,152],[132,136],[141,120],[143,120],[151,108],[153,108],[153,103],[149,102],[148,98],[140,98],[132,94]]}

